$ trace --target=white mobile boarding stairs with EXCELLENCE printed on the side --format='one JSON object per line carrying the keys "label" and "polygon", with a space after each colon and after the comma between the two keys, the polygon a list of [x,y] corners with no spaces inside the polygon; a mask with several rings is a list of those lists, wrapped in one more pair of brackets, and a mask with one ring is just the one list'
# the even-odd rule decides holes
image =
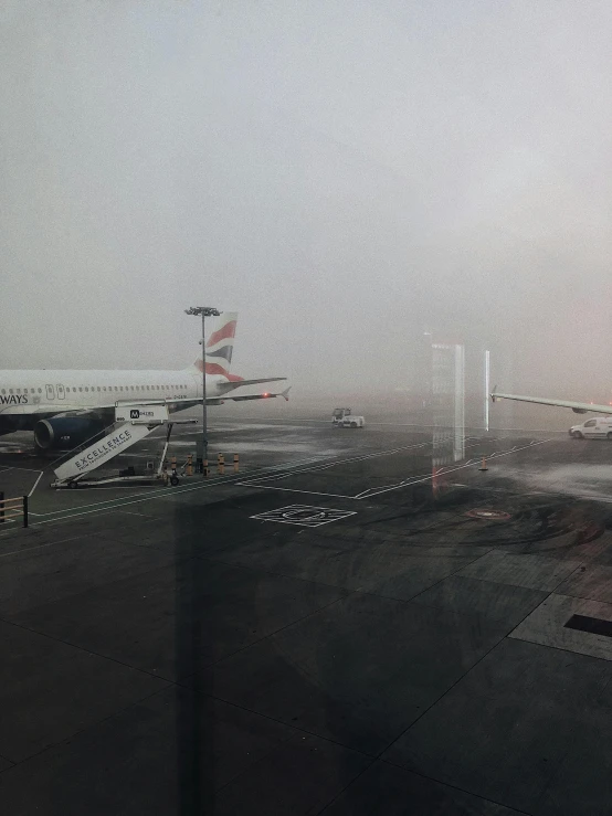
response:
{"label": "white mobile boarding stairs with EXCELLENCE printed on the side", "polygon": [[[183,420],[180,424],[193,424],[196,420]],[[162,477],[166,452],[172,433],[175,422],[169,422],[168,407],[166,405],[123,405],[115,409],[115,426],[104,438],[98,439],[75,456],[55,468],[56,480],[51,487],[93,486],[110,484],[114,481],[155,481]],[[109,476],[107,478],[89,478],[91,474],[101,465],[108,463],[119,454],[140,442],[160,425],[168,425],[166,444],[156,474],[137,476]],[[176,475],[172,484],[178,484]]]}

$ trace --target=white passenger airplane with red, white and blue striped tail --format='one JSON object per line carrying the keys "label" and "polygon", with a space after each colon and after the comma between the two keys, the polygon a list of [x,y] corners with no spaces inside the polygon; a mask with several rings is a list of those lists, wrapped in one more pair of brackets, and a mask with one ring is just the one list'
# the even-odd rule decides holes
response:
{"label": "white passenger airplane with red, white and blue striped tail", "polygon": [[[244,380],[230,373],[238,314],[225,311],[205,345],[207,404],[262,400],[282,393],[229,395],[244,385],[286,380]],[[202,359],[181,371],[0,371],[0,435],[33,431],[39,451],[72,449],[113,424],[117,403],[163,403],[181,411],[202,402]]]}

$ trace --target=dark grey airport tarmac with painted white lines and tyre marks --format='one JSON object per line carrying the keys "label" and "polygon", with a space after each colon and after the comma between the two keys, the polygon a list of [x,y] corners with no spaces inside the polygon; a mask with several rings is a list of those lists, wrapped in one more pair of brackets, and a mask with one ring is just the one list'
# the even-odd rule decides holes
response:
{"label": "dark grey airport tarmac with painted white lines and tyre marks", "polygon": [[612,444],[257,415],[53,491],[4,442],[4,813],[612,814]]}

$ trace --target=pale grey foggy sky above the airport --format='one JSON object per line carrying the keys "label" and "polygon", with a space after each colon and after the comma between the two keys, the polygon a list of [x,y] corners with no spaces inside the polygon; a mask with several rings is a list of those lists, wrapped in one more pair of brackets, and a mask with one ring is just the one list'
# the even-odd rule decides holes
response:
{"label": "pale grey foggy sky above the airport", "polygon": [[[609,0],[4,0],[0,368],[612,399]],[[496,370],[497,367],[497,370]]]}

